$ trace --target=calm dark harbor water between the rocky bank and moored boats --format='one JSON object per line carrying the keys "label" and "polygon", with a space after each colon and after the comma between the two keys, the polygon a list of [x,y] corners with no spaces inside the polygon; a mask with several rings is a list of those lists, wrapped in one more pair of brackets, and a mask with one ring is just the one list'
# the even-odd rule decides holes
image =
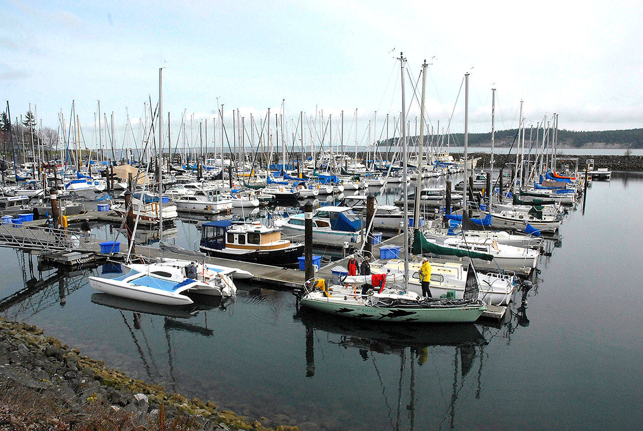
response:
{"label": "calm dark harbor water between the rocky bank and moored boats", "polygon": [[[104,268],[60,277],[11,249],[0,249],[0,297],[17,295],[0,315],[136,378],[276,419],[266,425],[638,430],[642,196],[641,174],[594,182],[584,214],[561,226],[562,246],[541,257],[538,284],[516,293],[495,327],[338,320],[298,311],[289,292],[242,284],[231,304],[141,308],[89,288],[87,275]],[[179,245],[199,239],[189,223],[172,235]]]}

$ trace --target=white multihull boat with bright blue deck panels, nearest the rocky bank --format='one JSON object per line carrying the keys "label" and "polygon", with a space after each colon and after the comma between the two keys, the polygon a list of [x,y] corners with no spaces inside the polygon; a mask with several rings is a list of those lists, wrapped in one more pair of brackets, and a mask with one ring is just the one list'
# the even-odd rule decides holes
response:
{"label": "white multihull boat with bright blue deck panels, nearest the rocky bank", "polygon": [[194,301],[188,292],[232,297],[237,288],[220,268],[199,262],[165,259],[152,264],[129,264],[119,277],[89,277],[89,285],[100,292],[155,304],[181,306]]}

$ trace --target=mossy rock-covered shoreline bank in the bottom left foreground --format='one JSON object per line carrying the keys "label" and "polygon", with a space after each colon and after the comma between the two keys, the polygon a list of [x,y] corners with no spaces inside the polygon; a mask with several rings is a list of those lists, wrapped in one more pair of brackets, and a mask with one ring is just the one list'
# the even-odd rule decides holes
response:
{"label": "mossy rock-covered shoreline bank in the bottom left foreground", "polygon": [[[263,418],[262,418],[263,419]],[[167,393],[0,318],[0,430],[257,430],[260,421]]]}

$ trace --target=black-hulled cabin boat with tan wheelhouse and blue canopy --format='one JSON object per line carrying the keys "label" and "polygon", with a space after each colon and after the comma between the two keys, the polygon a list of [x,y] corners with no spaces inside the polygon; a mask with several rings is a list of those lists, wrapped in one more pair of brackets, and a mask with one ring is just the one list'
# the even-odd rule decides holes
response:
{"label": "black-hulled cabin boat with tan wheelhouse and blue canopy", "polygon": [[212,257],[296,268],[303,244],[281,238],[281,230],[230,220],[203,223],[201,252]]}

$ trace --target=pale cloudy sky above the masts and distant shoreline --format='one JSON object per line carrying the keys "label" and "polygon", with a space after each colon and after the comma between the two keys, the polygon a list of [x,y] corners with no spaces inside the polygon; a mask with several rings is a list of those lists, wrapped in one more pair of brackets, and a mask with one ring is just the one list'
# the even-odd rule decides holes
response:
{"label": "pale cloudy sky above the masts and distant shoreline", "polygon": [[640,0],[6,0],[2,9],[0,93],[12,117],[32,104],[56,129],[73,100],[87,141],[98,100],[117,128],[127,113],[143,121],[144,102],[158,102],[159,68],[172,127],[184,113],[212,122],[220,104],[226,124],[233,109],[264,118],[283,101],[295,122],[300,111],[332,115],[334,135],[341,111],[354,134],[358,109],[358,140],[369,121],[372,138],[385,137],[386,114],[392,134],[401,111],[401,52],[411,134],[425,59],[428,128],[464,131],[465,73],[472,133],[491,131],[492,88],[496,130],[517,127],[520,100],[528,127],[553,113],[561,129],[643,127]]}

